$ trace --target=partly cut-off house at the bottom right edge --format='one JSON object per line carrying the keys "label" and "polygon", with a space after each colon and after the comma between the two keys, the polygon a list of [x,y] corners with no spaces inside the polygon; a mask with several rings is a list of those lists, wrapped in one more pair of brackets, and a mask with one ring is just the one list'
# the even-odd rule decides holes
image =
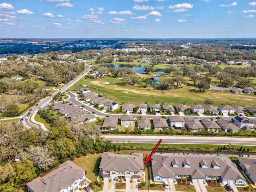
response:
{"label": "partly cut-off house at the bottom right edge", "polygon": [[253,185],[256,185],[256,158],[241,158],[236,159],[238,165],[242,168],[244,173],[250,178]]}

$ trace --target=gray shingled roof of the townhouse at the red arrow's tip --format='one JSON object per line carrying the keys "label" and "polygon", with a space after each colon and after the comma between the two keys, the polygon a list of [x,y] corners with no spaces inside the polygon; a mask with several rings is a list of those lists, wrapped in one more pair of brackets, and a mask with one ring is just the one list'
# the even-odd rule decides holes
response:
{"label": "gray shingled roof of the townhouse at the red arrow's tip", "polygon": [[140,172],[140,170],[144,170],[143,154],[132,153],[130,155],[120,155],[104,152],[99,168],[103,171]]}

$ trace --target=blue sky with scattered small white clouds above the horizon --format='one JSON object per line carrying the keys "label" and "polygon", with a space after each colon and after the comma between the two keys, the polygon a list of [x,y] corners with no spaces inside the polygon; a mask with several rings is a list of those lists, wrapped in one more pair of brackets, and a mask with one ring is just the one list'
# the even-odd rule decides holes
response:
{"label": "blue sky with scattered small white clouds above the horizon", "polygon": [[256,38],[254,0],[0,0],[0,38]]}

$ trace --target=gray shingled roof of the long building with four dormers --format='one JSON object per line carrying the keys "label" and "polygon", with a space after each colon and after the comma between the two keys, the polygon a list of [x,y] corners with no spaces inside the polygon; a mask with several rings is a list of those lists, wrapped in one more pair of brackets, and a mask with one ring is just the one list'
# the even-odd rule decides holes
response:
{"label": "gray shingled roof of the long building with four dormers", "polygon": [[[236,180],[244,176],[236,168],[236,164],[227,156],[174,156],[172,154],[153,154],[152,155],[152,172],[153,177],[169,177],[175,178],[176,175],[190,175],[192,178],[202,178],[205,176],[220,176],[223,179]],[[190,168],[184,168],[182,164],[186,164],[189,159]],[[200,162],[204,160],[208,168],[201,168]],[[172,167],[173,160],[180,162],[179,167]],[[214,161],[213,161],[214,160]],[[214,169],[211,164],[218,164],[220,169]]]}

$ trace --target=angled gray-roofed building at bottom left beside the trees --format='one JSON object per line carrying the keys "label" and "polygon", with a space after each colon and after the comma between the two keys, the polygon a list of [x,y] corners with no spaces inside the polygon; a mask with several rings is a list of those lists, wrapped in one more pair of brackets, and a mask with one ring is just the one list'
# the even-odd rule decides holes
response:
{"label": "angled gray-roofed building at bottom left beside the trees", "polygon": [[28,192],[74,192],[86,183],[84,170],[66,161],[57,169],[27,183]]}

